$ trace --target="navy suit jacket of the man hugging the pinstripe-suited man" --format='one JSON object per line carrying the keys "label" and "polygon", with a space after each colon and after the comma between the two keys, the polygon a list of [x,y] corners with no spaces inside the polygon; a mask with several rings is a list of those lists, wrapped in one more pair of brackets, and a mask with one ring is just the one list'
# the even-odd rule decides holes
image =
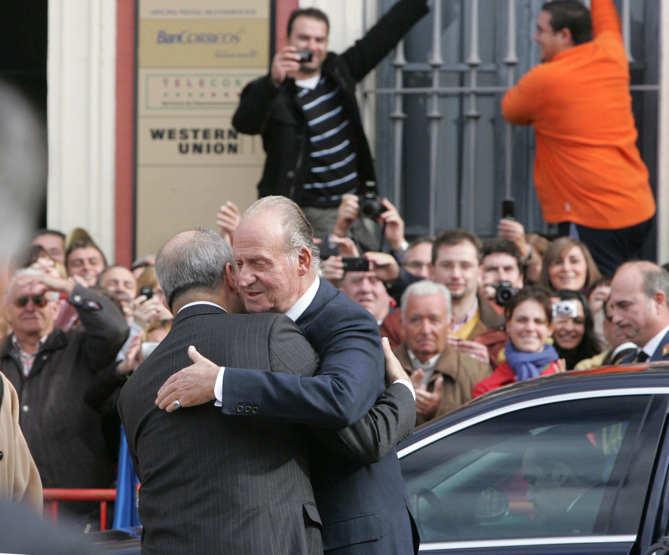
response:
{"label": "navy suit jacket of the man hugging the pinstripe-suited man", "polygon": [[[312,378],[225,368],[222,411],[340,429],[361,419],[385,390],[379,326],[363,307],[320,280],[296,324],[318,352]],[[257,413],[238,407],[258,407]],[[324,550],[337,555],[406,555],[418,537],[395,449],[363,465],[311,441],[309,462]]]}

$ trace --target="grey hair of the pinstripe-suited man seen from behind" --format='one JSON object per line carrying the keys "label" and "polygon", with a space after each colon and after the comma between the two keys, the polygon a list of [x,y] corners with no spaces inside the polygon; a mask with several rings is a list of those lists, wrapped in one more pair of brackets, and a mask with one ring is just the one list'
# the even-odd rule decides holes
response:
{"label": "grey hair of the pinstripe-suited man seen from behind", "polygon": [[232,249],[220,235],[205,227],[191,231],[194,237],[163,247],[156,255],[156,275],[170,308],[188,291],[219,290],[225,281],[225,266],[234,264]]}

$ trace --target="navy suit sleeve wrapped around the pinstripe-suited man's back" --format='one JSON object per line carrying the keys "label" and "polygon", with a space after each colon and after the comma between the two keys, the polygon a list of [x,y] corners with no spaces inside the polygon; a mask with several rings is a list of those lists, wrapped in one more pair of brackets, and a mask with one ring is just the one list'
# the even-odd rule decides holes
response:
{"label": "navy suit sleeve wrapped around the pinstripe-suited man's back", "polygon": [[[348,427],[366,415],[385,389],[379,326],[359,305],[338,308],[312,322],[310,328],[322,338],[307,332],[321,358],[317,376],[225,368],[223,414],[278,418],[325,429]],[[276,338],[270,336],[272,340]]]}

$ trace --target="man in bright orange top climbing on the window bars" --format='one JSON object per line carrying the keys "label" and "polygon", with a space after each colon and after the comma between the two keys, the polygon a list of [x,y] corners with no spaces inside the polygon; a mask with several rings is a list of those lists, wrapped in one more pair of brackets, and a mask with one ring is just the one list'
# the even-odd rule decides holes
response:
{"label": "man in bright orange top climbing on the window bars", "polygon": [[[579,238],[603,273],[638,255],[655,201],[636,148],[630,70],[612,0],[543,6],[541,62],[502,100],[504,118],[535,128],[544,219]],[[594,37],[593,37],[594,34]]]}

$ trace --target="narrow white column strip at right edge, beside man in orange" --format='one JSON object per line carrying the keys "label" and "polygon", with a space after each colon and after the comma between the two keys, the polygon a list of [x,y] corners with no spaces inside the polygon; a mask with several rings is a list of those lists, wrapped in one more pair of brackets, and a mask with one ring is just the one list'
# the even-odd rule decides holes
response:
{"label": "narrow white column strip at right edge, beside man in orange", "polygon": [[669,261],[669,0],[660,4],[660,130],[658,140],[658,262]]}

